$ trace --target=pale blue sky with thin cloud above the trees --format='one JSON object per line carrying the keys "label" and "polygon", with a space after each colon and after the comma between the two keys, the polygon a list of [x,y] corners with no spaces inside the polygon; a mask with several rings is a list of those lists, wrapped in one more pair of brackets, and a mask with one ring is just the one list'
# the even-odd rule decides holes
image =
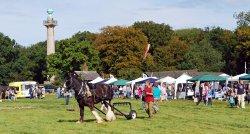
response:
{"label": "pale blue sky with thin cloud above the trees", "polygon": [[46,40],[42,21],[55,10],[57,40],[78,31],[99,32],[107,25],[152,20],[173,29],[220,26],[235,29],[235,12],[249,11],[250,0],[0,0],[0,32],[29,46]]}

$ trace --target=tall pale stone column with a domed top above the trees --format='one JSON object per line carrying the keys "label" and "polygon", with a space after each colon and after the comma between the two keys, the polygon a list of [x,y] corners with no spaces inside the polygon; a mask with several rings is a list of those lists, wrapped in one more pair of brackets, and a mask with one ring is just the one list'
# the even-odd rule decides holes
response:
{"label": "tall pale stone column with a domed top above the trees", "polygon": [[52,17],[53,12],[54,11],[52,9],[48,9],[47,20],[43,21],[43,25],[47,27],[47,55],[55,53],[54,28],[57,25],[57,21]]}

